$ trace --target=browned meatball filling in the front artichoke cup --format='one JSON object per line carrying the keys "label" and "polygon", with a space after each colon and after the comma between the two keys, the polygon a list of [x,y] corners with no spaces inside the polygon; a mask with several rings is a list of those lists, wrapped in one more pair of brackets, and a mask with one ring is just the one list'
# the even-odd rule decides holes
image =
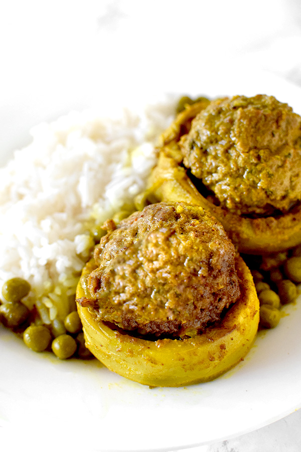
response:
{"label": "browned meatball filling in the front artichoke cup", "polygon": [[194,335],[239,297],[235,250],[201,207],[158,203],[111,229],[86,279],[101,320],[141,334]]}

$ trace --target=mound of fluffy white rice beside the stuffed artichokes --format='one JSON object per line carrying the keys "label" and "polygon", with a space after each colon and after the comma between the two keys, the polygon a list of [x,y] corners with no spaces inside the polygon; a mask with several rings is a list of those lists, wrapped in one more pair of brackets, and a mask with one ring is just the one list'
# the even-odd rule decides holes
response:
{"label": "mound of fluffy white rice beside the stuffed artichokes", "polygon": [[74,309],[78,277],[103,222],[141,192],[174,101],[115,118],[71,112],[32,129],[29,146],[0,169],[0,290],[13,277],[32,286],[25,300],[42,322]]}

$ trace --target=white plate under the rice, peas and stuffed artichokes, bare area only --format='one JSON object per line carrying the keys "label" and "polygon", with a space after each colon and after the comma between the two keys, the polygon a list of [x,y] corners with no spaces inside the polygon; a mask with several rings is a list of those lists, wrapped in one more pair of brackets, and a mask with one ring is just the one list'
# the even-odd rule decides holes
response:
{"label": "white plate under the rice, peas and stuffed artichokes, bare area only", "polygon": [[[267,93],[301,112],[299,88],[270,74],[233,72],[235,76],[227,72],[224,77],[211,72],[187,83],[163,79],[156,88],[209,96]],[[43,102],[28,100],[21,106],[16,99],[9,119],[2,106],[0,120],[9,126],[0,139],[3,158],[28,140],[26,130],[32,125],[97,103],[103,93],[97,98],[94,94],[91,88],[74,101],[58,91],[56,96],[46,94]],[[258,335],[234,370],[213,382],[177,389],[149,389],[96,361],[61,362],[36,354],[0,327],[0,425],[14,431],[18,427],[36,442],[48,435],[49,448],[58,444],[64,430],[59,449],[84,451],[171,450],[257,429],[301,407],[301,302],[285,311],[288,315],[274,330]]]}

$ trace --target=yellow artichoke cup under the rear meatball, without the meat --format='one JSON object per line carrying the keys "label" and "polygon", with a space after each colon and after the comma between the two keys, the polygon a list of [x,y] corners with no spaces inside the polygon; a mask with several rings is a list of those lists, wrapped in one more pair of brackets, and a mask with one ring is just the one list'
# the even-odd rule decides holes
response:
{"label": "yellow artichoke cup under the rear meatball, without the meat", "polygon": [[301,243],[301,204],[287,213],[266,217],[246,217],[215,205],[203,196],[182,166],[179,140],[189,132],[193,118],[207,102],[188,105],[162,134],[158,163],[148,179],[144,197],[157,201],[195,204],[218,219],[240,253],[267,255],[285,251]]}

